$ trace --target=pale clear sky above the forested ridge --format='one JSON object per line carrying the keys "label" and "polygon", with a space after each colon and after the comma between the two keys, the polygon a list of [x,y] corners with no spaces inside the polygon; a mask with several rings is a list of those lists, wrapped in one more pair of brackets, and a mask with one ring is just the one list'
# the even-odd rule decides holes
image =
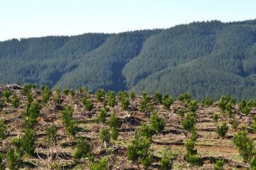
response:
{"label": "pale clear sky above the forested ridge", "polygon": [[0,0],[0,40],[255,18],[255,0]]}

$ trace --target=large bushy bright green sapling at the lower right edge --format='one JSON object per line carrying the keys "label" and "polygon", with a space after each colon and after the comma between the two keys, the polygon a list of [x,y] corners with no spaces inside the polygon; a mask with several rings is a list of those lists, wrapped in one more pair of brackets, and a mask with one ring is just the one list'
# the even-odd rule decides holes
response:
{"label": "large bushy bright green sapling at the lower right edge", "polygon": [[233,143],[238,148],[244,162],[249,162],[253,158],[253,151],[255,149],[253,139],[247,137],[247,134],[247,131],[238,131],[233,139]]}

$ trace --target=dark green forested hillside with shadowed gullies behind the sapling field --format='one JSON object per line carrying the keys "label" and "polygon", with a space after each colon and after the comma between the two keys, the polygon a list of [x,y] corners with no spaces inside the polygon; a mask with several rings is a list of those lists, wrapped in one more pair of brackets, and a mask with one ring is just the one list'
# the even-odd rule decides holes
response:
{"label": "dark green forested hillside with shadowed gullies behind the sapling field", "polygon": [[256,20],[0,42],[0,83],[256,97]]}

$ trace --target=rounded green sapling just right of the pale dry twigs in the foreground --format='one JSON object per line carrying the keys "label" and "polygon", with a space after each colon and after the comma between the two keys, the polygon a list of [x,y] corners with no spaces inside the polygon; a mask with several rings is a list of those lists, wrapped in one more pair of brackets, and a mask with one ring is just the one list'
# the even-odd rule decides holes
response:
{"label": "rounded green sapling just right of the pale dry twigs in the foreground", "polygon": [[75,159],[81,159],[83,157],[89,157],[92,154],[93,147],[84,137],[79,137],[77,140],[77,150],[74,152],[73,157]]}

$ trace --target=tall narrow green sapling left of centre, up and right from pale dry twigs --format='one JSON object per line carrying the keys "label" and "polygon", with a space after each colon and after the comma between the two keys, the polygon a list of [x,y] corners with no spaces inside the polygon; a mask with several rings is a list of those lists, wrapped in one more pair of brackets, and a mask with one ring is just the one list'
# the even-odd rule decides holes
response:
{"label": "tall narrow green sapling left of centre, up and right from pale dry twigs", "polygon": [[67,133],[72,137],[76,136],[77,124],[72,118],[73,110],[71,106],[66,106],[63,111],[61,111],[61,118],[64,126],[66,127]]}

